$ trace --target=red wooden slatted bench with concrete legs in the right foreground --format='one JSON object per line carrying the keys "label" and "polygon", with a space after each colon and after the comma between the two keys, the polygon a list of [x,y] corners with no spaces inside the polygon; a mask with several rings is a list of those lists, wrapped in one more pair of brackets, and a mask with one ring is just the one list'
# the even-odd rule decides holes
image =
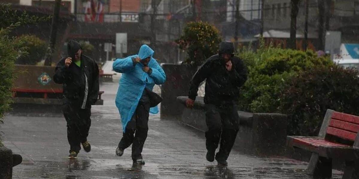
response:
{"label": "red wooden slatted bench with concrete legs in the right foreground", "polygon": [[287,136],[287,145],[312,152],[307,173],[330,178],[332,159],[344,159],[343,179],[359,178],[359,117],[327,110],[318,137]]}

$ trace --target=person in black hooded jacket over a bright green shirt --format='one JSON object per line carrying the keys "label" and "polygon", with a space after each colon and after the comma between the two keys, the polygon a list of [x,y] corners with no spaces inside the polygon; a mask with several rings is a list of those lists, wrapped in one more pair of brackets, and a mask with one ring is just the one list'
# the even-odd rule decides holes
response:
{"label": "person in black hooded jacket over a bright green shirt", "polygon": [[53,81],[62,84],[64,89],[62,113],[67,123],[69,158],[77,158],[80,143],[86,152],[91,150],[87,136],[91,126],[91,105],[97,101],[99,93],[99,69],[90,57],[82,54],[78,42],[70,40],[67,53],[69,57],[57,63]]}

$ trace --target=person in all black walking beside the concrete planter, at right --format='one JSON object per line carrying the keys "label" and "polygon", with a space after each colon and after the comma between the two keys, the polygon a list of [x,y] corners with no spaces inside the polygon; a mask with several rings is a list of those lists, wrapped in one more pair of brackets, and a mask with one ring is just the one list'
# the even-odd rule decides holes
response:
{"label": "person in all black walking beside the concrete planter, at right", "polygon": [[[219,53],[208,58],[193,76],[186,105],[193,107],[197,91],[206,80],[204,103],[206,109],[206,159],[219,165],[228,165],[227,159],[236,140],[239,129],[237,101],[239,90],[247,80],[247,70],[243,61],[234,57],[234,45],[224,41],[219,45]],[[215,151],[220,142],[220,148]]]}

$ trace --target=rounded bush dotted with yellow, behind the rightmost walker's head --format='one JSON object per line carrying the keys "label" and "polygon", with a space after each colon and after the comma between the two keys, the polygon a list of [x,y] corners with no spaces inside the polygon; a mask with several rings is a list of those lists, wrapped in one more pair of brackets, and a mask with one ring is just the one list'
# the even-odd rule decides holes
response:
{"label": "rounded bush dotted with yellow, behind the rightmost walker's head", "polygon": [[187,51],[184,64],[200,66],[207,58],[218,53],[222,38],[215,26],[206,22],[190,22],[176,43]]}

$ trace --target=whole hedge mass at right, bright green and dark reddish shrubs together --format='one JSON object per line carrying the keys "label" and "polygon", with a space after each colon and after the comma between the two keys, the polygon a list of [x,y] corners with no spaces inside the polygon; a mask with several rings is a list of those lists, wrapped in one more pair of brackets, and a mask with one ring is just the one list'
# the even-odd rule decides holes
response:
{"label": "whole hedge mass at right, bright green and dark reddish shrubs together", "polygon": [[326,57],[276,47],[243,48],[248,67],[241,110],[288,115],[288,134],[317,135],[327,109],[359,115],[359,72]]}

